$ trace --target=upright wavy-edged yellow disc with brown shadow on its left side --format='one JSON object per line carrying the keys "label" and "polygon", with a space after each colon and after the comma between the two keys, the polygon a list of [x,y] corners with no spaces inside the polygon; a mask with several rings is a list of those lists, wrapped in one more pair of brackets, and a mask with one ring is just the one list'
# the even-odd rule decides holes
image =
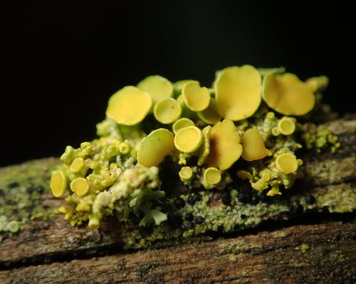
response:
{"label": "upright wavy-edged yellow disc with brown shadow on its left side", "polygon": [[226,170],[239,160],[242,153],[239,130],[229,119],[219,121],[210,131],[210,153],[206,164]]}

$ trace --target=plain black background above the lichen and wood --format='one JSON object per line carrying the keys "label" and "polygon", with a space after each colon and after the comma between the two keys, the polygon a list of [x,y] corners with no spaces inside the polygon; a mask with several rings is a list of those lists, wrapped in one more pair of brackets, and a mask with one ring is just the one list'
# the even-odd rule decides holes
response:
{"label": "plain black background above the lichen and wood", "polygon": [[325,102],[355,111],[355,16],[345,3],[12,1],[0,165],[95,138],[110,95],[147,75],[209,86],[227,66],[285,66],[303,80],[328,75]]}

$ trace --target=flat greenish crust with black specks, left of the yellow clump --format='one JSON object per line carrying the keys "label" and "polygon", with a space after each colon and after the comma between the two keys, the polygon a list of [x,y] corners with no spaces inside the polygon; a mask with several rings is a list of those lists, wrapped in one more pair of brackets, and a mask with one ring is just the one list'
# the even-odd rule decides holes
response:
{"label": "flat greenish crust with black specks, left of the yellow clump", "polygon": [[[51,172],[59,165],[54,158],[36,160],[0,169],[0,239],[21,231],[34,219],[51,219],[49,196]],[[0,241],[1,242],[1,241]]]}

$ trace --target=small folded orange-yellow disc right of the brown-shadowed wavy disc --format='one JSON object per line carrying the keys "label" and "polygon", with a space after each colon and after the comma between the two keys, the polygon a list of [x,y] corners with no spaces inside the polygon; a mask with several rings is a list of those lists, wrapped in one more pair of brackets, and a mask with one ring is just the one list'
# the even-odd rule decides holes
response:
{"label": "small folded orange-yellow disc right of the brown-shadowed wavy disc", "polygon": [[261,133],[258,129],[248,129],[242,136],[242,158],[244,160],[259,160],[271,155],[271,151],[266,149]]}

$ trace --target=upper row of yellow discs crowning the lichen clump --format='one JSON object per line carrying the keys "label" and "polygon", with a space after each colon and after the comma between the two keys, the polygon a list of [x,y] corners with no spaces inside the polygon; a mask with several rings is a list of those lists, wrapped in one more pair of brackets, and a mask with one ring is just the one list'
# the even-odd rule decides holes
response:
{"label": "upper row of yellow discs crowning the lichen clump", "polygon": [[[261,75],[263,74],[263,75]],[[261,100],[284,115],[300,116],[313,109],[313,86],[282,72],[259,72],[251,65],[217,72],[213,87],[194,80],[172,84],[159,75],[127,86],[110,98],[106,114],[118,124],[132,126],[153,113],[162,124],[172,124],[184,111],[194,111],[206,124],[221,119],[240,121],[252,116]]]}

